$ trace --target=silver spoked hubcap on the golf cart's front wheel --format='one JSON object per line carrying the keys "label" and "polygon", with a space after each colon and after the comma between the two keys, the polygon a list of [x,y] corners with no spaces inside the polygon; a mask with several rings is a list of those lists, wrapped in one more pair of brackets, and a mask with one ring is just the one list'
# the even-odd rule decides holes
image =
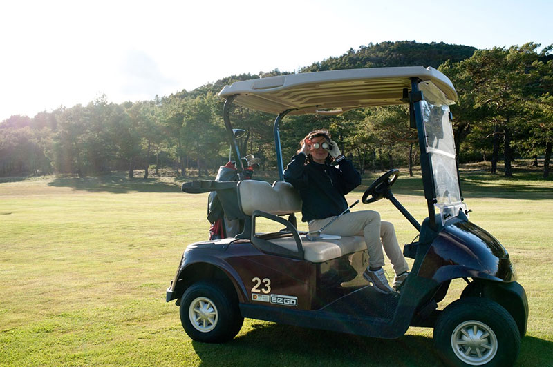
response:
{"label": "silver spoked hubcap on the golf cart's front wheel", "polygon": [[451,334],[453,353],[472,366],[480,366],[494,359],[497,346],[494,330],[480,321],[465,321]]}

